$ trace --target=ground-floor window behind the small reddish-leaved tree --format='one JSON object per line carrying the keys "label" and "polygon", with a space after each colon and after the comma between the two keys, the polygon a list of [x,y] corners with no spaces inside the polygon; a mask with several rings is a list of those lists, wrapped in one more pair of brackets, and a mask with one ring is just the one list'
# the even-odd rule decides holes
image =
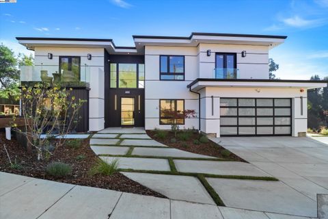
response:
{"label": "ground-floor window behind the small reddish-leaved tree", "polygon": [[183,125],[184,118],[182,113],[184,111],[184,100],[160,100],[159,107],[161,125]]}

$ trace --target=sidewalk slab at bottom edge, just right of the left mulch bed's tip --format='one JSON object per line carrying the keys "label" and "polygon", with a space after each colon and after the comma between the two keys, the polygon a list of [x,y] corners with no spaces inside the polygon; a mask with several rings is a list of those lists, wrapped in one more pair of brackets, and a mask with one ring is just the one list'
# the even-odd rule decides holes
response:
{"label": "sidewalk slab at bottom edge, just right of the left mulch bed's tip", "polygon": [[171,219],[223,219],[217,206],[171,201]]}

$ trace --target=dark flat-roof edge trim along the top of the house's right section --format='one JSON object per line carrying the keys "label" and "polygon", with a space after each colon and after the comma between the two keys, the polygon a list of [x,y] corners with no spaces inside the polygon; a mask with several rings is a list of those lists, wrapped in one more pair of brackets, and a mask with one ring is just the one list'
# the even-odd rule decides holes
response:
{"label": "dark flat-roof edge trim along the top of the house's right section", "polygon": [[193,36],[231,36],[231,37],[252,37],[252,38],[277,38],[277,39],[286,39],[287,36],[275,36],[275,35],[258,35],[258,34],[219,34],[219,33],[200,33],[193,32],[188,36],[138,36],[133,35],[135,38],[143,39],[174,39],[174,40],[190,40]]}

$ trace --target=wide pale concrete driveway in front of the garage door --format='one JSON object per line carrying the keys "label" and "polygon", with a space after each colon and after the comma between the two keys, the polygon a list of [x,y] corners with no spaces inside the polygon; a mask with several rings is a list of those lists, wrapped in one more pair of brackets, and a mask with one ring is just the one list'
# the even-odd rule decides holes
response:
{"label": "wide pale concrete driveway in front of the garage door", "polygon": [[[293,137],[213,140],[280,181],[270,185],[271,182],[210,180],[227,206],[316,216],[316,194],[328,194],[328,144]],[[234,194],[243,197],[243,201]]]}

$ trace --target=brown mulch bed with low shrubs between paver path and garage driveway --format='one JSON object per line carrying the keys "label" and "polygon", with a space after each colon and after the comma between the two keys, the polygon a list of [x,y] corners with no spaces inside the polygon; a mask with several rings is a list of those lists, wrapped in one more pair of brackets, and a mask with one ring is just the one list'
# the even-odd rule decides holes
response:
{"label": "brown mulch bed with low shrubs between paver path and garage driveway", "polygon": [[[174,133],[172,131],[167,131],[167,136],[164,139],[157,138],[156,136],[156,131],[151,131],[147,130],[147,134],[151,137],[154,138],[154,140],[161,142],[163,144],[166,144],[167,146],[171,146],[176,149],[180,149],[182,151],[189,151],[192,153],[197,153],[200,155],[208,155],[212,157],[219,157],[219,158],[225,158],[225,159],[232,159],[238,162],[246,162],[244,159],[241,157],[238,157],[234,153],[230,153],[228,157],[223,157],[221,155],[221,151],[226,150],[219,144],[216,144],[215,142],[212,142],[211,140],[208,141],[208,143],[200,143],[200,144],[194,144],[194,140],[199,140],[200,139],[200,134],[199,133],[191,133],[191,138],[186,141],[178,140],[174,136]],[[176,142],[172,143],[171,139],[175,138]]]}

